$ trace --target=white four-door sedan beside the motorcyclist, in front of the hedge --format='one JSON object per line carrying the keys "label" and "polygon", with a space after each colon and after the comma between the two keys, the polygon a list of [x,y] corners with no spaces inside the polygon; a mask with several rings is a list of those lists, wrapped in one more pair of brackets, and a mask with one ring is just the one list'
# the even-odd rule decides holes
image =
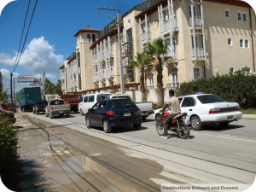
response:
{"label": "white four-door sedan beside the motorcyclist, in front of the hedge", "polygon": [[[241,119],[241,108],[237,102],[224,102],[212,94],[179,96],[182,113],[188,113],[186,119],[193,130],[202,130],[204,123],[218,123],[227,126]],[[154,118],[160,115],[160,109],[154,110]]]}

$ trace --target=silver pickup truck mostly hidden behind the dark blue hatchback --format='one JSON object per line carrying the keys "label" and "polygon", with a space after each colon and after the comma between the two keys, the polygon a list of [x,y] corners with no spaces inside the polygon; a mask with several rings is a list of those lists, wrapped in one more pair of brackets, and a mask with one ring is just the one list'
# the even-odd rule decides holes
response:
{"label": "silver pickup truck mostly hidden behind the dark blue hatchback", "polygon": [[[116,98],[128,98],[131,99],[131,96],[129,94],[115,94],[111,96],[107,96],[106,99],[116,99]],[[143,121],[146,120],[148,115],[154,113],[154,103],[153,102],[135,102],[137,107],[141,110],[141,113],[143,115]]]}

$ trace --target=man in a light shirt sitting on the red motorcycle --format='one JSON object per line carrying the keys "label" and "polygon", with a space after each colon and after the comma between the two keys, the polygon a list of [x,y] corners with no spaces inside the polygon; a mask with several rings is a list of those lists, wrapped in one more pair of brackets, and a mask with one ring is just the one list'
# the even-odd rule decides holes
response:
{"label": "man in a light shirt sitting on the red motorcycle", "polygon": [[160,110],[160,113],[162,113],[162,112],[166,111],[166,108],[168,108],[169,106],[171,108],[171,113],[166,118],[166,121],[164,123],[164,136],[163,136],[163,138],[169,138],[167,130],[171,126],[172,119],[175,117],[175,115],[177,113],[180,113],[180,111],[181,111],[180,106],[179,106],[179,101],[178,101],[177,97],[174,96],[174,90],[169,90],[169,96],[170,96],[170,99],[166,103],[166,106],[163,109]]}

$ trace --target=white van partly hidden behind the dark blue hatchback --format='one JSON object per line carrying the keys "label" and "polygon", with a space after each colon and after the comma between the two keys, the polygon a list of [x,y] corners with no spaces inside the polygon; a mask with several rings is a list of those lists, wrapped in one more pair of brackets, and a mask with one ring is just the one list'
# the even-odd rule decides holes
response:
{"label": "white van partly hidden behind the dark blue hatchback", "polygon": [[81,102],[79,102],[79,112],[81,113],[81,115],[87,113],[88,109],[91,108],[96,102],[101,102],[107,96],[111,96],[111,94],[94,93],[82,96]]}

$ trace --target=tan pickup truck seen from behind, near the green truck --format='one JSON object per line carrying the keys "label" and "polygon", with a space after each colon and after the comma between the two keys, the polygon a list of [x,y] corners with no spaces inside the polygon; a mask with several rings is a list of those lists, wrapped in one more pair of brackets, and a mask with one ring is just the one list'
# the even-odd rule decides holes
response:
{"label": "tan pickup truck seen from behind, near the green truck", "polygon": [[65,104],[63,99],[52,99],[48,101],[48,104],[45,108],[45,116],[51,119],[54,116],[63,116],[69,117],[70,115],[70,105]]}

